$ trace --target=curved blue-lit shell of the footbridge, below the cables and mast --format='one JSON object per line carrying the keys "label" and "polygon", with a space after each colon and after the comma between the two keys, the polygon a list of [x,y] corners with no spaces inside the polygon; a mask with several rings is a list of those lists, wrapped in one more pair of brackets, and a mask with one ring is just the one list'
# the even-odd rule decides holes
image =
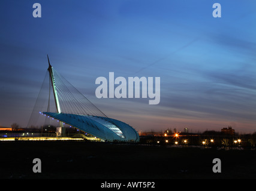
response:
{"label": "curved blue-lit shell of the footbridge, below the cables and mast", "polygon": [[139,140],[138,133],[122,121],[92,115],[75,115],[69,113],[42,114],[58,119],[65,124],[71,125],[79,130],[85,131],[95,137],[108,141],[135,141]]}

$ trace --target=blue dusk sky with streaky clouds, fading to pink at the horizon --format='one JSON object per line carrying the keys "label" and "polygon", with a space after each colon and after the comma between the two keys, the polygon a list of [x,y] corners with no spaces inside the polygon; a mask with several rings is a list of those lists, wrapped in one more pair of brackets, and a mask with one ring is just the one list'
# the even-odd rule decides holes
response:
{"label": "blue dusk sky with streaky clouds, fading to pink at the horizon", "polygon": [[[34,18],[34,3],[41,18]],[[221,4],[221,18],[212,5]],[[52,66],[139,131],[256,130],[256,1],[0,2],[0,126],[26,127]],[[95,96],[95,79],[160,77],[161,101]]]}

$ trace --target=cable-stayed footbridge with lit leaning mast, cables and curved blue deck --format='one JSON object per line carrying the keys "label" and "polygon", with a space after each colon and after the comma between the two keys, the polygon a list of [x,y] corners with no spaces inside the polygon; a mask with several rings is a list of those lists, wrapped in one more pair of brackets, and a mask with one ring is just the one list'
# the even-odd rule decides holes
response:
{"label": "cable-stayed footbridge with lit leaning mast, cables and curved blue deck", "polygon": [[[69,125],[104,141],[139,141],[139,135],[134,128],[107,117],[52,67],[48,55],[47,58],[49,100],[47,110],[41,110],[38,114],[58,120],[61,137],[66,136],[65,125]],[[51,92],[56,112],[50,112]]]}

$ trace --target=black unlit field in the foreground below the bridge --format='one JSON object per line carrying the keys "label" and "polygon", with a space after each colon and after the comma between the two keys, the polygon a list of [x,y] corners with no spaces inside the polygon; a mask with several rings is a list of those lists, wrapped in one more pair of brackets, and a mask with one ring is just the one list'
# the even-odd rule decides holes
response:
{"label": "black unlit field in the foreground below the bridge", "polygon": [[[88,143],[0,142],[0,178],[256,178],[255,150],[217,150]],[[41,173],[34,173],[34,158]],[[212,171],[221,159],[221,173]]]}

